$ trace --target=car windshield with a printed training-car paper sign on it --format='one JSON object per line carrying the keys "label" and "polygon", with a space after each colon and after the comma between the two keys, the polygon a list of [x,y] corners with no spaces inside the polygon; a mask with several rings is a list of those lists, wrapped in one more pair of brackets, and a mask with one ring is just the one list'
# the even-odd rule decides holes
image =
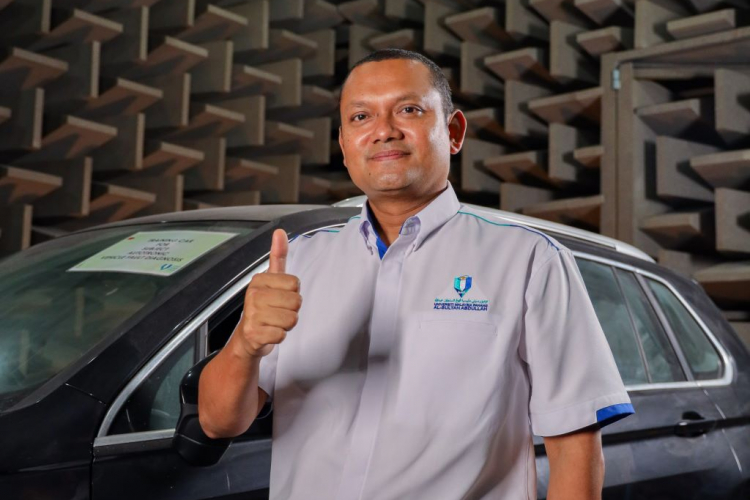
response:
{"label": "car windshield with a printed training-car paper sign on it", "polygon": [[121,226],[67,235],[0,260],[0,411],[196,279],[262,224]]}

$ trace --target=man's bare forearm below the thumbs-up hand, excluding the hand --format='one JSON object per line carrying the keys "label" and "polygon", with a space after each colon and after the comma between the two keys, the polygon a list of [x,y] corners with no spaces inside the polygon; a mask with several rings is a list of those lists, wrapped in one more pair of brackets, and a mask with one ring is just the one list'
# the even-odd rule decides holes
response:
{"label": "man's bare forearm below the thumbs-up hand, excluding the hand", "polygon": [[258,413],[260,358],[239,355],[233,347],[230,341],[206,365],[199,381],[198,416],[212,438],[242,434]]}

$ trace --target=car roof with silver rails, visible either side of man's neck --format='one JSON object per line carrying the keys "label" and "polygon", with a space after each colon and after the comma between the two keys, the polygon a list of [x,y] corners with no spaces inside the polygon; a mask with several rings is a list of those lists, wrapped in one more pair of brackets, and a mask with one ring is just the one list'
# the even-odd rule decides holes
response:
{"label": "car roof with silver rails, visible either side of man's neck", "polygon": [[[353,208],[361,207],[367,199],[366,196],[355,196],[334,203],[334,207]],[[502,219],[507,222],[520,224],[523,226],[538,229],[551,236],[564,236],[566,238],[583,241],[597,246],[609,248],[618,253],[630,255],[647,262],[655,262],[654,259],[642,250],[629,245],[623,241],[597,234],[584,229],[578,229],[557,222],[551,222],[528,215],[517,214],[496,208],[482,207],[464,203],[465,207],[471,210],[496,219]],[[203,208],[198,210],[183,210],[180,212],[167,212],[163,214],[147,215],[144,217],[135,217],[118,222],[103,224],[83,231],[111,228],[117,226],[128,226],[134,224],[149,224],[157,222],[188,222],[188,221],[209,221],[209,220],[243,220],[243,221],[260,221],[268,222],[280,217],[291,215],[306,210],[315,210],[320,208],[330,208],[331,205],[314,205],[314,204],[287,204],[287,205],[240,205],[234,207],[217,207]]]}

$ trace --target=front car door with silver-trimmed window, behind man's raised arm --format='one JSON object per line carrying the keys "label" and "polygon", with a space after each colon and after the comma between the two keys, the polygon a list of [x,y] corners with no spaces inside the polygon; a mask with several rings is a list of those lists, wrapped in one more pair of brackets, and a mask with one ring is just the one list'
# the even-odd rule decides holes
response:
{"label": "front car door with silver-trimmed window, behind man's raised arm", "polygon": [[[312,230],[308,224],[304,234],[336,225],[327,220],[330,218],[318,219]],[[208,353],[225,345],[239,322],[248,283],[255,273],[267,268],[264,260],[234,283],[121,391],[94,442],[94,500],[268,498],[272,429],[267,411],[233,440],[213,466],[190,465],[172,448],[183,376]]]}

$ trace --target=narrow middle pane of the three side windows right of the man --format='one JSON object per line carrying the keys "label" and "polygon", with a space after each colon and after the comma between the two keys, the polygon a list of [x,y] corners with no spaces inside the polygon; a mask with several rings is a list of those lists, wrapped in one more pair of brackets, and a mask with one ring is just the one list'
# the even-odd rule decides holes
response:
{"label": "narrow middle pane of the three side windows right of the man", "polygon": [[669,337],[662,328],[638,280],[629,271],[617,269],[622,291],[630,306],[635,328],[641,339],[651,382],[686,380]]}

